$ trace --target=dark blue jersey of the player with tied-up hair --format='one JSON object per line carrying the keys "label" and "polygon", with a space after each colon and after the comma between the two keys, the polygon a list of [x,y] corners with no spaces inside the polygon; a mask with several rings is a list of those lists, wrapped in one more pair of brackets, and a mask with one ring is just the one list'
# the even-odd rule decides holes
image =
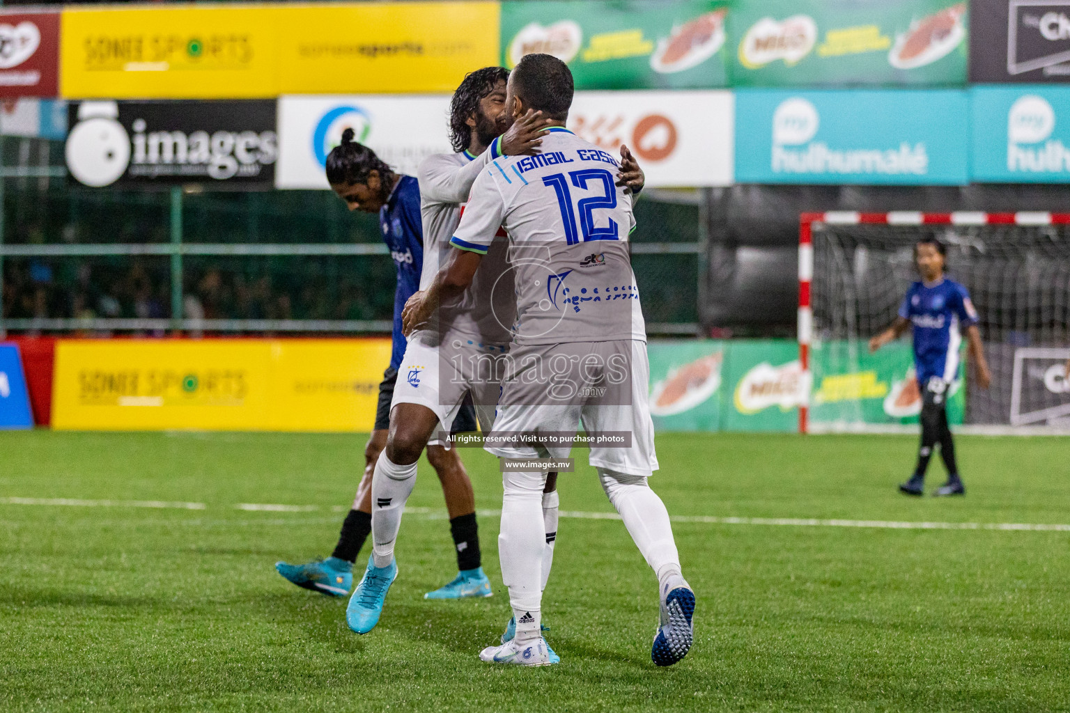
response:
{"label": "dark blue jersey of the player with tied-up hair", "polygon": [[401,334],[401,309],[419,290],[419,273],[424,268],[424,227],[419,217],[419,184],[411,175],[402,175],[394,186],[386,205],[379,208],[379,227],[383,243],[398,270],[398,286],[394,292],[394,348],[391,367],[397,369],[404,357],[406,338]]}

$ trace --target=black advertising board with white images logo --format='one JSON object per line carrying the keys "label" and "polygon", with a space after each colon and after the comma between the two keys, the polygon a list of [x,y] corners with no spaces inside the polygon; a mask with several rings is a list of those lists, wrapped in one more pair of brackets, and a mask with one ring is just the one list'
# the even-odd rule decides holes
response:
{"label": "black advertising board with white images logo", "polygon": [[76,184],[274,186],[274,99],[72,102],[67,121],[66,165]]}

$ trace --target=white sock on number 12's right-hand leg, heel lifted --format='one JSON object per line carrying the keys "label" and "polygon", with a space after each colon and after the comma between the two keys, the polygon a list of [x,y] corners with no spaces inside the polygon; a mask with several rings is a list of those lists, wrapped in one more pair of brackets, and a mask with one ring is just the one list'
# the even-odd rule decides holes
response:
{"label": "white sock on number 12's right-hand leg, heel lifted", "polygon": [[681,573],[679,554],[672,537],[669,512],[657,493],[646,484],[646,476],[626,476],[598,468],[598,479],[616,508],[639,552],[658,575],[659,584]]}

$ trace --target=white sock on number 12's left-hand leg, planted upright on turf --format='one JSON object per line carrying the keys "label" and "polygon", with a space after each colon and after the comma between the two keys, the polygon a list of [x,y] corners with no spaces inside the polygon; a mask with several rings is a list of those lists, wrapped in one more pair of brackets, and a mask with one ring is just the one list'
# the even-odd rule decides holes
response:
{"label": "white sock on number 12's left-hand leg, planted upright on turf", "polygon": [[542,487],[545,472],[511,472],[502,476],[502,526],[498,536],[498,555],[502,562],[502,583],[509,588],[509,604],[517,622],[517,641],[539,636],[542,590],[542,554],[546,530],[542,526]]}

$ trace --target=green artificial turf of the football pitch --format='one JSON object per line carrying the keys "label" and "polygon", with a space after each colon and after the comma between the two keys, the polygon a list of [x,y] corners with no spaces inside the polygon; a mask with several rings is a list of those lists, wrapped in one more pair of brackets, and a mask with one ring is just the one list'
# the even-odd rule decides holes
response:
{"label": "green artificial turf of the football pitch", "polygon": [[[905,436],[660,435],[673,515],[1070,523],[1070,444],[960,437],[967,496],[908,499]],[[478,661],[494,596],[427,602],[456,562],[426,463],[379,627],[277,559],[330,554],[361,436],[0,433],[0,499],[180,500],[204,510],[0,503],[0,711],[1068,711],[1070,532],[678,522],[696,642],[651,663],[656,580],[616,520],[563,517],[542,604],[562,664]],[[562,511],[609,512],[594,472]],[[462,456],[480,509],[496,462]],[[934,459],[930,485],[943,480]],[[236,503],[316,506],[248,512]],[[430,509],[430,510],[428,510]],[[357,561],[363,569],[366,546]]]}

